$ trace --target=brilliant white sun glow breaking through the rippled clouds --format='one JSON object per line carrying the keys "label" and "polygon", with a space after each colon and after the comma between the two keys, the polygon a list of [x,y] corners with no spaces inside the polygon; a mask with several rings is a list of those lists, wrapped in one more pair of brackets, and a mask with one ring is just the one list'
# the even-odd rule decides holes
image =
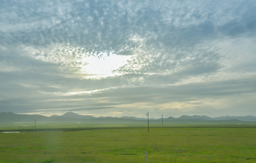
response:
{"label": "brilliant white sun glow breaking through the rippled clouds", "polygon": [[87,79],[100,79],[121,75],[113,72],[125,65],[131,56],[116,55],[114,52],[100,52],[90,55],[84,48],[56,44],[48,49],[25,47],[31,57],[44,62],[53,62],[77,70]]}

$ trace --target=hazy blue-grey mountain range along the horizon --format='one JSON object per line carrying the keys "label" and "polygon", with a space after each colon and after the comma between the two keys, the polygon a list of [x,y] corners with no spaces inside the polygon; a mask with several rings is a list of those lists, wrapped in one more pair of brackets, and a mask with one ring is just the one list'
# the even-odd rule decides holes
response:
{"label": "hazy blue-grey mountain range along the horizon", "polygon": [[[94,117],[91,115],[78,115],[73,112],[68,112],[63,115],[52,115],[50,117],[43,115],[20,115],[12,112],[1,112],[0,122],[24,122],[24,121],[41,121],[41,122],[77,122],[84,123],[145,123],[146,118],[137,118],[133,116],[123,117]],[[159,123],[159,119],[150,119],[151,123]],[[169,123],[239,123],[241,122],[253,122],[256,123],[256,116],[221,116],[211,118],[205,115],[182,115],[179,118],[168,117],[163,119]]]}

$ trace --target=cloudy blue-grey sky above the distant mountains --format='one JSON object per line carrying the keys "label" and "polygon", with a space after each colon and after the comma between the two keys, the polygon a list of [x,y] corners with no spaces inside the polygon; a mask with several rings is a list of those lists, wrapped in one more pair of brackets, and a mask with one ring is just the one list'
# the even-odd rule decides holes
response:
{"label": "cloudy blue-grey sky above the distant mountains", "polygon": [[256,116],[256,0],[0,0],[0,112]]}

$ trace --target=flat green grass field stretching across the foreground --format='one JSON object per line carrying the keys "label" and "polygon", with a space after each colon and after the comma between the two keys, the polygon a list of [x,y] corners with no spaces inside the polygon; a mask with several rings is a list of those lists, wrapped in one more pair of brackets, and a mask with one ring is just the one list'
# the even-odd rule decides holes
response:
{"label": "flat green grass field stretching across the foreground", "polygon": [[255,126],[72,127],[0,133],[0,163],[145,163],[145,151],[149,163],[256,162]]}

